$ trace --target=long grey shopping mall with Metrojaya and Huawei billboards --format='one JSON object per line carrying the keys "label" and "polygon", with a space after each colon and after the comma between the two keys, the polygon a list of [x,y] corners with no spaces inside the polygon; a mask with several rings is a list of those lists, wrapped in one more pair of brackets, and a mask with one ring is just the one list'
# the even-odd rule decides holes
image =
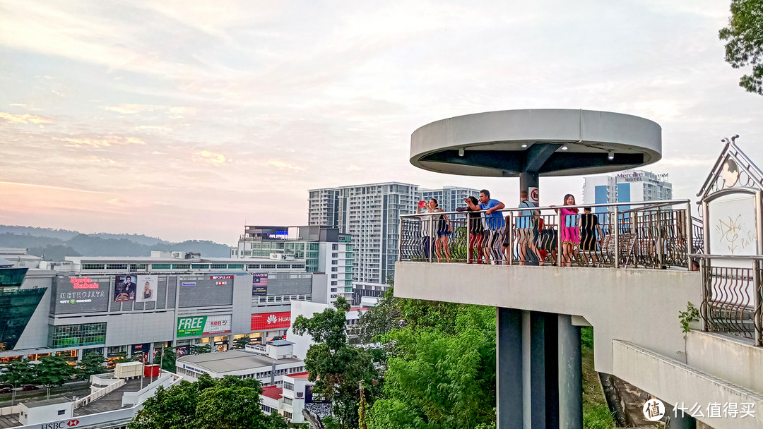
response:
{"label": "long grey shopping mall with Metrojaya and Huawei billboards", "polygon": [[325,296],[328,285],[304,259],[162,251],[41,261],[0,248],[0,262],[0,362],[53,353],[79,360],[90,351],[113,362],[163,345],[225,351],[245,336],[264,344],[285,335],[291,300]]}

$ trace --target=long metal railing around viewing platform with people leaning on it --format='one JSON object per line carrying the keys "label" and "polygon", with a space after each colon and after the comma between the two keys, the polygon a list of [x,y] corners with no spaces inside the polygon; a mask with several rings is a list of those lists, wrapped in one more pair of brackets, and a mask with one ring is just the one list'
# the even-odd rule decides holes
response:
{"label": "long metal railing around viewing platform with people leaning on it", "polygon": [[401,216],[398,260],[691,269],[689,255],[703,242],[690,200],[498,211]]}

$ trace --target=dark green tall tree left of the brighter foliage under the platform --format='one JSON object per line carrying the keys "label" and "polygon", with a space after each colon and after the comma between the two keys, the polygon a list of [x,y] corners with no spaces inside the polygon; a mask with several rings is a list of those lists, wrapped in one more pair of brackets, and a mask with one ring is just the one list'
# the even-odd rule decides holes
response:
{"label": "dark green tall tree left of the brighter foliage under the platform", "polygon": [[305,367],[315,381],[315,392],[326,394],[332,402],[334,427],[358,427],[358,383],[363,382],[365,402],[372,403],[381,392],[375,354],[348,343],[346,315],[349,303],[336,299],[336,309],[315,313],[311,319],[298,316],[292,325],[297,335],[307,332],[317,344],[311,345],[304,359]]}

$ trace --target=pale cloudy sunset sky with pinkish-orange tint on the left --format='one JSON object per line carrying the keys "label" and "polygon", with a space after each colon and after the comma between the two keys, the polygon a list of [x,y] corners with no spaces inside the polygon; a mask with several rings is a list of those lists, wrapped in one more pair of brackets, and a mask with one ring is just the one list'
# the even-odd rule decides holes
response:
{"label": "pale cloudy sunset sky with pinkish-orange tint on the left", "polygon": [[[468,3],[468,4],[467,4]],[[0,224],[234,244],[304,225],[307,190],[517,178],[410,165],[410,134],[491,110],[662,126],[675,198],[723,145],[763,165],[763,97],[723,61],[718,0],[0,0]],[[541,178],[542,205],[582,178]]]}

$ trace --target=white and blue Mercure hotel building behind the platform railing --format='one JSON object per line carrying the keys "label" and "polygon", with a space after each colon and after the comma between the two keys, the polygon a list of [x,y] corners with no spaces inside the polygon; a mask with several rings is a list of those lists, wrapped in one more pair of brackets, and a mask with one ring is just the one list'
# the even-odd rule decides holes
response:
{"label": "white and blue Mercure hotel building behind the platform railing", "polygon": [[[632,201],[671,200],[673,184],[668,174],[655,174],[643,170],[627,170],[606,176],[584,178],[583,203],[629,203]],[[595,212],[607,211],[597,207]]]}

